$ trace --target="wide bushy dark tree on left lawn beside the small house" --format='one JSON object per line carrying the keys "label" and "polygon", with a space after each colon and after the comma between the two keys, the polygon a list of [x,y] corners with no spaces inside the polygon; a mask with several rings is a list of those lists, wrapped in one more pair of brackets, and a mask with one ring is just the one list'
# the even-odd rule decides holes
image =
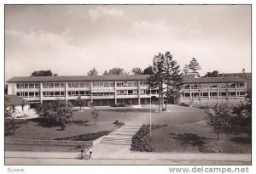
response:
{"label": "wide bushy dark tree on left lawn beside the small house", "polygon": [[60,99],[38,104],[36,113],[42,119],[42,124],[45,122],[46,126],[61,126],[61,130],[73,119],[72,104]]}

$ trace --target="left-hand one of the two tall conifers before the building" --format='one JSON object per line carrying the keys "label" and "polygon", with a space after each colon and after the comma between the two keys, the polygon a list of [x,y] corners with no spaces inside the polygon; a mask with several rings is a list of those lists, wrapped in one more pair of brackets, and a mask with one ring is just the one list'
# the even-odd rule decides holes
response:
{"label": "left-hand one of the two tall conifers before the building", "polygon": [[[164,55],[159,53],[158,55],[154,55],[152,72],[148,77],[149,87],[158,88],[159,90],[159,112],[160,107],[163,105],[163,84],[165,76],[163,74],[163,64],[164,64]],[[163,107],[162,107],[163,108]]]}

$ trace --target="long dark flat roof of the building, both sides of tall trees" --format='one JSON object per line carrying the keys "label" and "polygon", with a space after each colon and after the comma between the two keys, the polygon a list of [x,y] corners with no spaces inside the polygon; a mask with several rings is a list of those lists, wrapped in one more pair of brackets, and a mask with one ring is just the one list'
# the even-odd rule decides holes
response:
{"label": "long dark flat roof of the building, both sides of tall trees", "polygon": [[[201,77],[194,78],[183,75],[183,83],[218,83],[218,82],[245,82],[239,76]],[[15,76],[8,82],[55,82],[55,81],[146,81],[148,75],[126,76]]]}

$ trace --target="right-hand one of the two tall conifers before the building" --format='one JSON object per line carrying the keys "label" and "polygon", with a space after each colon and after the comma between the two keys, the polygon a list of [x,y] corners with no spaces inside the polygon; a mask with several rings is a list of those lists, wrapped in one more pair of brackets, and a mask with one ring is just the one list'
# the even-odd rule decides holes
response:
{"label": "right-hand one of the two tall conifers before the building", "polygon": [[164,83],[166,84],[166,109],[170,98],[180,97],[183,85],[180,66],[177,65],[177,61],[172,59],[172,57],[173,55],[170,52],[166,52],[163,62]]}

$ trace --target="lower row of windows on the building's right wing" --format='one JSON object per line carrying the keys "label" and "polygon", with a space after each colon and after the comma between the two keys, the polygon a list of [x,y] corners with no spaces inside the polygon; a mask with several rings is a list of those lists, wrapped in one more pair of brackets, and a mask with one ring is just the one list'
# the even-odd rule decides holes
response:
{"label": "lower row of windows on the building's right wing", "polygon": [[[211,93],[191,93],[191,98],[226,98],[226,97],[245,97],[246,92],[211,92]],[[183,98],[190,98],[190,93],[183,93]]]}

